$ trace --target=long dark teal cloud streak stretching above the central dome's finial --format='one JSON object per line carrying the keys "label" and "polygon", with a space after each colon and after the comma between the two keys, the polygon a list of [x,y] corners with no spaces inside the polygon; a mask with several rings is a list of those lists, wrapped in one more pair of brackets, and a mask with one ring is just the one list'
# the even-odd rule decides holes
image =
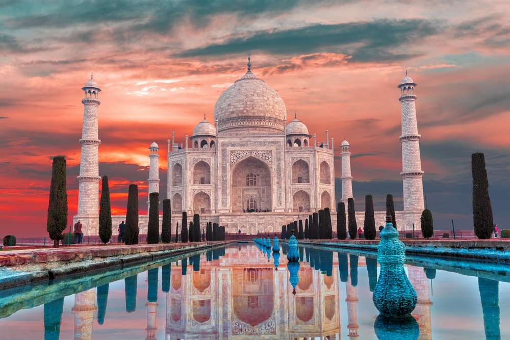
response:
{"label": "long dark teal cloud streak stretching above the central dome's finial", "polygon": [[397,53],[394,49],[404,43],[438,34],[443,29],[442,21],[425,19],[314,24],[290,30],[257,31],[227,39],[224,43],[190,49],[178,55],[220,56],[245,53],[248,50],[276,55],[300,55],[327,51],[352,56],[350,61],[389,61],[413,57],[413,54]]}

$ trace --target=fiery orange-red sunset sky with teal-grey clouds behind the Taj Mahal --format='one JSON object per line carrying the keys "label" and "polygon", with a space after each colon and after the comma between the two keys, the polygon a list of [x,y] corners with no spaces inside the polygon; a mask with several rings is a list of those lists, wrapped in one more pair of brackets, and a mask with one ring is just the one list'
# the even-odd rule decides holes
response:
{"label": "fiery orange-red sunset sky with teal-grey clouds behind the Taj Mahal", "polygon": [[[148,146],[203,119],[252,71],[291,118],[340,150],[351,145],[356,210],[365,195],[402,209],[400,90],[409,73],[424,193],[437,230],[472,228],[471,153],[486,156],[495,223],[510,229],[510,5],[494,1],[0,0],[0,236],[46,233],[52,159],[65,155],[69,219],[77,213],[83,106],[94,74],[99,175],[112,213],[129,184],[146,211]],[[289,119],[288,119],[289,120]],[[337,199],[341,185],[337,178]],[[145,196],[144,196],[145,195]]]}

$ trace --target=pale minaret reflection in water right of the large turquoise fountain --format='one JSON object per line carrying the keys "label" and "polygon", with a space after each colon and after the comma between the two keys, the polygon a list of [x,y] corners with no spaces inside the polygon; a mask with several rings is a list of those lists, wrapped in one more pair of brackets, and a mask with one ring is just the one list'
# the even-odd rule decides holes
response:
{"label": "pale minaret reflection in water right of the large turquoise fountain", "polygon": [[425,271],[421,267],[407,267],[407,276],[418,295],[418,304],[413,310],[412,315],[415,317],[420,326],[420,336],[418,340],[432,339],[432,326],[430,320],[430,294],[429,284]]}

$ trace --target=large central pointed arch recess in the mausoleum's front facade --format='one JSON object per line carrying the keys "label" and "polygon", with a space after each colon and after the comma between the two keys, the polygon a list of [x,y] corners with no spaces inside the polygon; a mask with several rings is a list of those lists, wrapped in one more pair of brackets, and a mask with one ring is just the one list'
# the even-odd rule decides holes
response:
{"label": "large central pointed arch recess in the mausoleum's front facade", "polygon": [[271,169],[262,160],[249,156],[232,170],[233,212],[271,211]]}

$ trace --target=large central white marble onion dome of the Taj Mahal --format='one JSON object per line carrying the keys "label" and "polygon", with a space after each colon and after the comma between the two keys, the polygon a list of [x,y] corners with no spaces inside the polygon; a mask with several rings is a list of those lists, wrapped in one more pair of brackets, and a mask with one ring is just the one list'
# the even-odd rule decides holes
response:
{"label": "large central white marble onion dome of the Taj Mahal", "polygon": [[286,119],[282,97],[249,69],[220,95],[214,106],[218,131],[253,127],[283,131]]}

